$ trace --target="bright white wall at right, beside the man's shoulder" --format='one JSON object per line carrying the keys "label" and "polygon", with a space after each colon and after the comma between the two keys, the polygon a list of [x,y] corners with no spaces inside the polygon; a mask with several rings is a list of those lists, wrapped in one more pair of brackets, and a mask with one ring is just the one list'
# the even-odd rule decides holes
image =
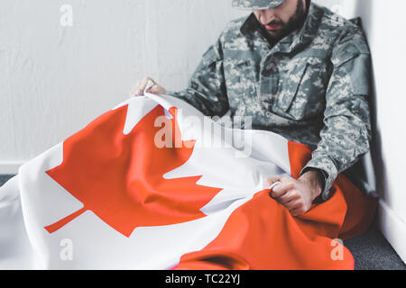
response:
{"label": "bright white wall at right, beside the man's shoulder", "polygon": [[[346,0],[348,1],[348,0]],[[374,162],[382,194],[379,219],[385,237],[406,262],[406,33],[404,0],[358,0],[374,64]]]}

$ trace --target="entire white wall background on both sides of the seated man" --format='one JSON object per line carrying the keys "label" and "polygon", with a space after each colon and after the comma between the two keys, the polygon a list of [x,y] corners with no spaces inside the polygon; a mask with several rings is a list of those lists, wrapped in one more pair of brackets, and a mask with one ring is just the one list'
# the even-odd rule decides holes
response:
{"label": "entire white wall background on both sides of the seated man", "polygon": [[[231,0],[2,0],[0,174],[124,101],[137,78],[184,87],[225,24],[247,14]],[[404,0],[318,0],[361,15],[373,52],[374,157],[385,236],[406,259]],[[60,7],[73,25],[60,25]]]}

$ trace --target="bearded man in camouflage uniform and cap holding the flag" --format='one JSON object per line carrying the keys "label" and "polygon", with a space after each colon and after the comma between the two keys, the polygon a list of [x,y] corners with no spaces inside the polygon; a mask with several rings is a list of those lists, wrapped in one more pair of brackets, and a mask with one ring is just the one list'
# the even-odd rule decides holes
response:
{"label": "bearded man in camouflage uniform and cap holding the flag", "polygon": [[314,148],[299,179],[267,179],[281,183],[272,197],[299,216],[328,201],[337,175],[369,151],[370,52],[360,27],[310,1],[233,5],[254,12],[228,24],[188,88],[166,92],[154,82],[151,92],[180,97],[208,116],[252,117],[254,129]]}

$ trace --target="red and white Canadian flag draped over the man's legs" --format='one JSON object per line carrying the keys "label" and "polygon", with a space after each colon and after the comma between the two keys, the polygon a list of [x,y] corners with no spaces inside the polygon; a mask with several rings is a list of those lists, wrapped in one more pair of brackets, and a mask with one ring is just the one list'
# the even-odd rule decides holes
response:
{"label": "red and white Canadian flag draped over the man's legs", "polygon": [[292,217],[263,179],[308,147],[226,128],[170,95],[121,103],[0,188],[1,269],[353,269],[374,204],[339,175]]}

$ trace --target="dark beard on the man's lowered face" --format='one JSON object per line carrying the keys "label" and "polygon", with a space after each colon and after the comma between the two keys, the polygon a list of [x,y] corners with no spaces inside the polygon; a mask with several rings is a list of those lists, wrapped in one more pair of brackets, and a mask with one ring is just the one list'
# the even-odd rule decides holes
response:
{"label": "dark beard on the man's lowered face", "polygon": [[291,16],[288,23],[283,23],[282,21],[272,21],[271,23],[268,23],[268,25],[270,26],[272,25],[281,26],[281,29],[279,31],[272,33],[266,30],[266,28],[262,23],[260,23],[259,21],[258,23],[260,24],[262,30],[264,31],[266,39],[269,40],[272,44],[275,44],[282,38],[291,34],[292,31],[300,29],[305,23],[307,15],[308,13],[303,6],[303,2],[299,0],[296,6],[296,12]]}

